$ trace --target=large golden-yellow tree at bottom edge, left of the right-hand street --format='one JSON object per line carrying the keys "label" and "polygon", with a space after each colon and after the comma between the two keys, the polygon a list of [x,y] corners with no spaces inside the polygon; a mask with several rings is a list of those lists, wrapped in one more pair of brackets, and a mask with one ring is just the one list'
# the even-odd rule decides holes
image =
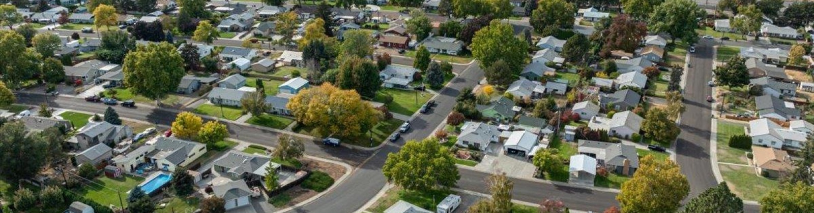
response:
{"label": "large golden-yellow tree at bottom edge, left of the right-hand street", "polygon": [[622,212],[675,212],[688,194],[689,182],[678,164],[670,159],[656,160],[649,154],[640,159],[633,177],[622,184],[616,200]]}

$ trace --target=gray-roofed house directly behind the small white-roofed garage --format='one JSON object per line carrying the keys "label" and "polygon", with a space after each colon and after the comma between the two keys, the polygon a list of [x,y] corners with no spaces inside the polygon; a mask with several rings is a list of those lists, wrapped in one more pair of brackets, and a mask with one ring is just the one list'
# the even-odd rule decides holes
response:
{"label": "gray-roofed house directly behind the small white-roofed garage", "polygon": [[578,151],[597,159],[608,172],[632,176],[639,167],[636,146],[621,143],[580,140]]}

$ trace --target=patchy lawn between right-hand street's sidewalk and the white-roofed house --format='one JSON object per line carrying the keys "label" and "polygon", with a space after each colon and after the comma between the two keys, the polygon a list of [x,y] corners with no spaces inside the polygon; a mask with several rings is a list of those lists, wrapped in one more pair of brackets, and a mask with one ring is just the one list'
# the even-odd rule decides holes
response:
{"label": "patchy lawn between right-hand street's sidewalk and the white-roofed house", "polygon": [[746,159],[749,150],[729,147],[729,137],[744,134],[743,127],[743,124],[718,121],[718,162],[749,164]]}

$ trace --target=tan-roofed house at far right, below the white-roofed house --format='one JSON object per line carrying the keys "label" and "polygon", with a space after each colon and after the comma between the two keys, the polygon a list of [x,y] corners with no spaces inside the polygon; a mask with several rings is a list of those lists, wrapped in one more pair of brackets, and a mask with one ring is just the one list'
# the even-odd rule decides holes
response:
{"label": "tan-roofed house at far right, below the white-roofed house", "polygon": [[781,178],[794,171],[791,155],[786,150],[771,147],[752,146],[752,163],[760,169],[760,174],[771,178]]}

